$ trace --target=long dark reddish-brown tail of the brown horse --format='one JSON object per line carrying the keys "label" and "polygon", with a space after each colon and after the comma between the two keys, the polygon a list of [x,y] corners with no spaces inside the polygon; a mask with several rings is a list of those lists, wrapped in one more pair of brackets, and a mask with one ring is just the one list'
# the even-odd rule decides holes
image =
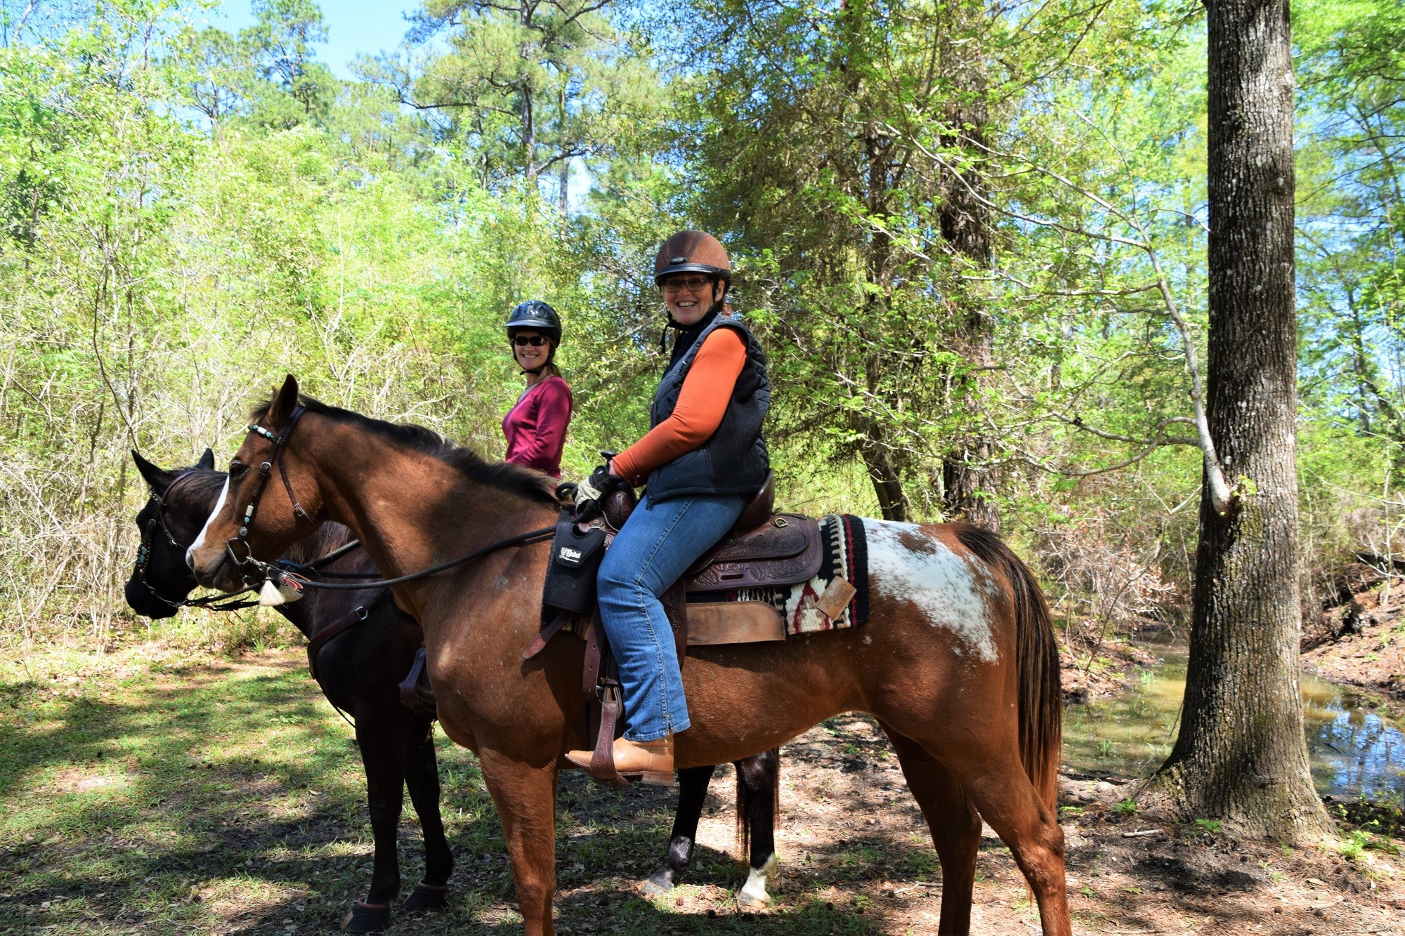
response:
{"label": "long dark reddish-brown tail of the brown horse", "polygon": [[1050,604],[1030,566],[1000,537],[969,524],[954,526],[961,545],[1003,573],[1009,583],[1020,684],[1020,760],[1040,800],[1054,811],[1064,742],[1064,691]]}

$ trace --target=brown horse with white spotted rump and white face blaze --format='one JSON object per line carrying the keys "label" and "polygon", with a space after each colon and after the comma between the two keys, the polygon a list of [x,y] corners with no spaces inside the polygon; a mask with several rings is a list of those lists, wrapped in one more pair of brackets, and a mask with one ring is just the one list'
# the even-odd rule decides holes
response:
{"label": "brown horse with white spotted rump and white face blaze", "polygon": [[[187,555],[207,586],[240,587],[246,555],[277,557],[323,519],[351,527],[391,576],[555,519],[542,475],[486,462],[424,429],[299,402],[291,375],[254,420],[226,496]],[[871,621],[691,651],[683,680],[693,727],[677,736],[677,766],[736,760],[836,714],[870,713],[932,829],[940,932],[969,932],[984,818],[1033,888],[1045,936],[1071,936],[1055,817],[1058,654],[1037,582],[999,538],[972,527],[864,526]],[[233,541],[237,550],[226,548]],[[444,731],[478,753],[532,936],[554,932],[556,772],[587,741],[582,642],[558,638],[521,661],[540,625],[547,558],[545,544],[500,548],[395,590],[424,628]]]}

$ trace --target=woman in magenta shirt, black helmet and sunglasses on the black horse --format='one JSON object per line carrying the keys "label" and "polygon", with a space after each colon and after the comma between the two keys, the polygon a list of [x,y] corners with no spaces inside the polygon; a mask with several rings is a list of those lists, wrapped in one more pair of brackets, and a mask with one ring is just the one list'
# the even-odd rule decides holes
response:
{"label": "woman in magenta shirt, black helmet and sunglasses on the black horse", "polygon": [[523,302],[507,316],[507,340],[527,377],[527,389],[503,417],[504,461],[561,478],[561,450],[570,424],[570,388],[554,363],[561,319],[540,299]]}

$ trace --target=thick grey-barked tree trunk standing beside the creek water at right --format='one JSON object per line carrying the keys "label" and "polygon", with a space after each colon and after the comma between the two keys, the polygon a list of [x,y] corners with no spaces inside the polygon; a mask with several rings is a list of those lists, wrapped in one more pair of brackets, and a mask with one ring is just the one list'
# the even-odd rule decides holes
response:
{"label": "thick grey-barked tree trunk standing beside the creek water at right", "polygon": [[1186,817],[1305,839],[1312,788],[1298,690],[1297,320],[1287,0],[1210,0],[1208,419],[1225,514],[1200,499],[1180,735],[1152,787]]}

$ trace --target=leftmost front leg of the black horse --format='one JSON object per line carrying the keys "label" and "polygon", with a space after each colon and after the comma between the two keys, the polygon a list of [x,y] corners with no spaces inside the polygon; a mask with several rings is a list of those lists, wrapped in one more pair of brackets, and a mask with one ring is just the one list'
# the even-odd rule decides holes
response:
{"label": "leftmost front leg of the black horse", "polygon": [[367,805],[375,836],[371,890],[341,922],[347,933],[374,933],[391,925],[391,901],[400,891],[396,832],[405,798],[405,749],[407,739],[399,720],[378,711],[355,713],[355,741],[365,767]]}

